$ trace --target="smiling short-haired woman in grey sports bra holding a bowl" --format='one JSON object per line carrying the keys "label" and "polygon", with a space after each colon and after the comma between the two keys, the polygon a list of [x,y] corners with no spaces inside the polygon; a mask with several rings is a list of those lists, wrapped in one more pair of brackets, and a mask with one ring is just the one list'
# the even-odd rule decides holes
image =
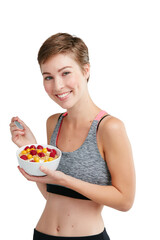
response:
{"label": "smiling short-haired woman in grey sports bra holding a bowl", "polygon": [[[103,206],[128,211],[134,201],[135,172],[124,124],[92,101],[88,49],[81,39],[66,33],[51,36],[41,46],[38,62],[45,91],[66,112],[47,119],[48,144],[62,151],[58,169],[41,167],[46,176],[34,177],[19,167],[46,198],[33,239],[107,240]],[[10,128],[18,147],[37,143],[18,117]]]}

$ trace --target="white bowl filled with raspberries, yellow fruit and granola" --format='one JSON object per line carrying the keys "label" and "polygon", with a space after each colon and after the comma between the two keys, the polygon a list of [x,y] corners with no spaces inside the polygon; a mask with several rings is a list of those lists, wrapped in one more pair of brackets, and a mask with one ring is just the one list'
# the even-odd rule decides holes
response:
{"label": "white bowl filled with raspberries, yellow fruit and granola", "polygon": [[62,153],[58,148],[51,145],[30,144],[19,148],[16,155],[19,166],[26,173],[33,176],[44,176],[45,173],[40,171],[40,166],[56,170]]}

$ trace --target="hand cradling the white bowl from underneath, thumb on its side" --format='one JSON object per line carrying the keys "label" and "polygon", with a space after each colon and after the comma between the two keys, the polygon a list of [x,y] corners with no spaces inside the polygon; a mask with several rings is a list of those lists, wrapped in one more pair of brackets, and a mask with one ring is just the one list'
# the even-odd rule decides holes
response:
{"label": "hand cradling the white bowl from underneath, thumb on its side", "polygon": [[45,173],[45,176],[31,176],[29,174],[27,174],[23,168],[20,168],[20,166],[18,166],[19,171],[22,173],[22,175],[28,180],[28,181],[33,181],[33,182],[37,182],[37,183],[48,183],[48,184],[62,184],[64,185],[65,183],[65,178],[66,178],[66,174],[64,174],[61,171],[52,171],[44,166],[40,167],[40,170]]}

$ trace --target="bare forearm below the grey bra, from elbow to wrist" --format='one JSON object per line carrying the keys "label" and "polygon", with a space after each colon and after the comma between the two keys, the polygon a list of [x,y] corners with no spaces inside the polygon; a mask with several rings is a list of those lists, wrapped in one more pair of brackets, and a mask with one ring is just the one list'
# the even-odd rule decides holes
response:
{"label": "bare forearm below the grey bra, from elbow to wrist", "polygon": [[124,194],[114,186],[91,184],[70,176],[67,176],[65,185],[101,205],[106,205],[120,211],[127,211],[131,207],[130,202],[124,197]]}

